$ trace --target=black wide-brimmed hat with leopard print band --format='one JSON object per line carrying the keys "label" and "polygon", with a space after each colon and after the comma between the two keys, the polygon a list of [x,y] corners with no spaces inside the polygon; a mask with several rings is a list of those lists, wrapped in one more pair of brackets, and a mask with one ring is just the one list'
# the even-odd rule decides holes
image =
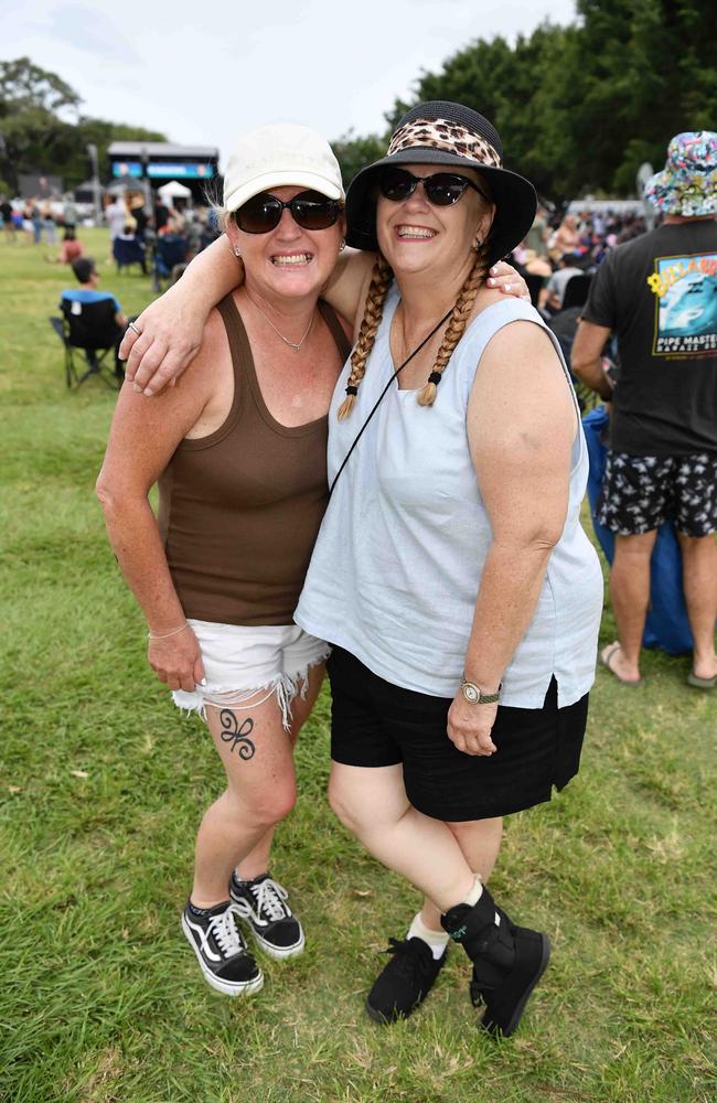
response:
{"label": "black wide-brimmed hat with leopard print band", "polygon": [[378,249],[376,178],[385,165],[436,164],[475,169],[495,203],[489,236],[489,264],[506,256],[533,225],[537,196],[533,184],[503,168],[503,144],[488,119],[448,100],[417,104],[404,115],[386,157],[362,169],[346,192],[346,243],[354,249]]}

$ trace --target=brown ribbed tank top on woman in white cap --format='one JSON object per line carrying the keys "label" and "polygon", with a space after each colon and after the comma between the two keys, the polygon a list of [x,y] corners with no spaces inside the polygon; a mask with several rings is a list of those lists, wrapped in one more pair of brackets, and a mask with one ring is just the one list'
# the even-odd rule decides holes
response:
{"label": "brown ribbed tank top on woman in white cap", "polygon": [[[342,361],[335,313],[319,310]],[[287,427],[259,389],[242,317],[218,304],[234,399],[206,437],[183,440],[159,479],[159,526],[186,617],[223,624],[291,624],[328,502],[328,418]]]}

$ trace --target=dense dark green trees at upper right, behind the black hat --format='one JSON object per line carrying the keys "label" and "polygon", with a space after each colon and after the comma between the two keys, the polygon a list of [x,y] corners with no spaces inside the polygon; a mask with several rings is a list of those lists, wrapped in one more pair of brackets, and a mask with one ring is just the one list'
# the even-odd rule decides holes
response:
{"label": "dense dark green trees at upper right, behind the black hat", "polygon": [[578,0],[577,11],[574,24],[543,23],[514,45],[478,38],[424,72],[413,98],[387,113],[385,133],[332,143],[344,179],[383,156],[398,118],[426,99],[485,115],[505,167],[556,202],[634,194],[638,169],[661,168],[673,135],[717,129],[713,0]]}

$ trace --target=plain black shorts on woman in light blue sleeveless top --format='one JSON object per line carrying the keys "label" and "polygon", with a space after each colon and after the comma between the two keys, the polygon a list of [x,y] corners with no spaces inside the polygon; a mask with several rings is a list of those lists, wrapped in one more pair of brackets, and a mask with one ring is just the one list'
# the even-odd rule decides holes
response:
{"label": "plain black shorts on woman in light blue sleeveless top", "polygon": [[[588,694],[558,708],[555,678],[543,708],[500,705],[491,756],[459,751],[447,733],[452,698],[385,682],[343,647],[327,663],[331,757],[344,765],[404,768],[408,800],[448,822],[486,820],[549,801],[578,772]],[[480,706],[477,706],[480,708]]]}

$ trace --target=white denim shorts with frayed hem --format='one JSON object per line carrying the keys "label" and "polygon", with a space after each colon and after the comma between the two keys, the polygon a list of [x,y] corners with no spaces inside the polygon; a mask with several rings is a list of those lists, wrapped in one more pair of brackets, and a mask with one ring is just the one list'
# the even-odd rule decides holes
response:
{"label": "white denim shorts with frayed hem", "polygon": [[275,695],[288,730],[291,703],[297,694],[306,697],[308,673],[325,662],[331,646],[298,624],[252,628],[191,619],[189,623],[202,652],[206,684],[193,693],[173,690],[174,704],[206,719],[206,705],[254,708]]}

